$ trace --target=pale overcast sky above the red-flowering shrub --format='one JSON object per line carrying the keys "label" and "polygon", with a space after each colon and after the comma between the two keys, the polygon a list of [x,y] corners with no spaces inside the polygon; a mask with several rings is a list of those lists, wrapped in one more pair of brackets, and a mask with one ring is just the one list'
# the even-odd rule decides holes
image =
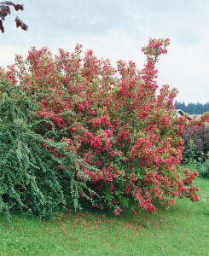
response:
{"label": "pale overcast sky above the red-flowering shrub", "polygon": [[[3,1],[2,1],[3,2]],[[25,10],[4,21],[0,66],[14,63],[32,45],[68,51],[75,44],[108,58],[135,61],[142,69],[148,38],[170,38],[160,57],[158,84],[177,87],[178,101],[209,102],[209,0],[14,0]],[[15,15],[29,26],[15,28]]]}

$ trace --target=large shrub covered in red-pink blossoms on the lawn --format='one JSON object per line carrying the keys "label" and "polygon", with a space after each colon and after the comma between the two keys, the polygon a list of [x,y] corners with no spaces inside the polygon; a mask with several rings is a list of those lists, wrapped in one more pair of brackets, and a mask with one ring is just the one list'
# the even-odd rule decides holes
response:
{"label": "large shrub covered in red-pink blossoms on the lawn", "polygon": [[[31,118],[44,122],[33,131],[51,155],[66,161],[54,171],[68,204],[76,198],[80,207],[89,201],[119,215],[125,208],[154,212],[156,201],[172,205],[174,197],[199,200],[198,173],[187,169],[182,178],[175,168],[188,125],[173,106],[177,90],[164,85],[157,94],[155,63],[168,45],[168,39],[150,39],[142,71],[133,61],[118,61],[115,69],[91,50],[83,56],[79,44],[55,56],[33,47],[26,60],[17,55],[15,65],[0,71],[4,82],[18,84],[36,102]],[[70,155],[77,168],[68,166]]]}

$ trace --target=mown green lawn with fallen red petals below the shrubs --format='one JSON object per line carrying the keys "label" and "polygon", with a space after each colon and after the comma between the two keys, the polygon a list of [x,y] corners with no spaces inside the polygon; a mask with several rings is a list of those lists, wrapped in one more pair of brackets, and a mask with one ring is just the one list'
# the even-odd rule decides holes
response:
{"label": "mown green lawn with fallen red petals below the shrubs", "polygon": [[44,222],[0,218],[0,255],[208,255],[209,180],[198,178],[200,201],[178,200],[154,214],[70,212]]}

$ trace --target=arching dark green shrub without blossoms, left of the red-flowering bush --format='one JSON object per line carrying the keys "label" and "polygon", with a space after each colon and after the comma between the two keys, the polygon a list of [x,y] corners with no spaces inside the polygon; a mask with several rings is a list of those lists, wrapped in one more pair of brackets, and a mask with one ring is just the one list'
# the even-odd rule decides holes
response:
{"label": "arching dark green shrub without blossoms, left of the red-flowering bush", "polygon": [[[53,128],[38,134],[41,123],[53,124],[36,118],[32,96],[6,84],[0,84],[0,94],[0,213],[49,218],[72,205],[82,209],[80,195],[93,204],[90,193],[95,193],[80,166],[95,168],[67,152],[66,143],[50,140],[51,135],[57,136]],[[49,153],[49,148],[58,155]]]}

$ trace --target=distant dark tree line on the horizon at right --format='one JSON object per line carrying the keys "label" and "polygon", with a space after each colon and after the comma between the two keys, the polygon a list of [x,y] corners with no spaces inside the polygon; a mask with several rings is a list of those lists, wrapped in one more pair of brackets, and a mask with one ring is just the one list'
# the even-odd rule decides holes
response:
{"label": "distant dark tree line on the horizon at right", "polygon": [[177,109],[182,109],[184,112],[189,114],[201,114],[205,113],[206,111],[209,111],[209,102],[206,102],[205,104],[196,102],[191,103],[189,102],[187,105],[185,102],[175,102],[174,103]]}

